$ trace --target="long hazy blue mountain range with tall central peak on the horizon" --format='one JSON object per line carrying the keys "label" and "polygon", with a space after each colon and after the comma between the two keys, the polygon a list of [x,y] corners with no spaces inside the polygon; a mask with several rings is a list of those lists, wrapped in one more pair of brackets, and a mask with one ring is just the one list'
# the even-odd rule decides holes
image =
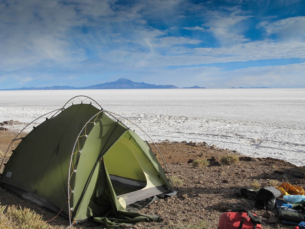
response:
{"label": "long hazy blue mountain range with tall central peak on the horizon", "polygon": [[[92,85],[88,87],[70,87],[70,86],[53,86],[53,87],[23,87],[23,88],[13,88],[13,89],[0,89],[0,91],[8,90],[74,90],[74,89],[170,89],[178,88],[175,85],[155,85],[148,83],[138,83],[133,82],[129,79],[120,78],[114,82],[102,83],[97,85]],[[184,87],[186,88],[186,87]],[[199,86],[193,86],[189,88],[204,88]]]}

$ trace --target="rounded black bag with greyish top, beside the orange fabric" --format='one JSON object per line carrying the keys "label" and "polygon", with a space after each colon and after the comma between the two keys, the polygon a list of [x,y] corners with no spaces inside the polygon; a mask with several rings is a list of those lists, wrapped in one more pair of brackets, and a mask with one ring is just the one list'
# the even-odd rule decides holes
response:
{"label": "rounded black bag with greyish top, beside the orange fabric", "polygon": [[256,194],[255,205],[261,209],[271,209],[275,205],[275,199],[281,192],[275,187],[261,188]]}

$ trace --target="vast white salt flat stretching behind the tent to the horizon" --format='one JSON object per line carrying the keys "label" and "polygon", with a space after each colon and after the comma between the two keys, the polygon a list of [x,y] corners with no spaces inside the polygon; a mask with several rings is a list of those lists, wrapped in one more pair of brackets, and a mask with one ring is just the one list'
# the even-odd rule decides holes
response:
{"label": "vast white salt flat stretching behind the tent to the horizon", "polygon": [[130,119],[154,141],[205,141],[305,165],[305,89],[0,91],[0,121],[31,122],[78,95]]}

